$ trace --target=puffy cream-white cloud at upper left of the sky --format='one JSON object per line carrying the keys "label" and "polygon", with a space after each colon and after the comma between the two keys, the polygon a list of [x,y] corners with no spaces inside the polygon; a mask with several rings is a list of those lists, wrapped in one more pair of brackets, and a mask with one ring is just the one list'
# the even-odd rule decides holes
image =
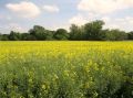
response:
{"label": "puffy cream-white cloud at upper left of the sky", "polygon": [[22,18],[35,18],[41,13],[40,9],[34,3],[28,1],[8,3],[6,7]]}

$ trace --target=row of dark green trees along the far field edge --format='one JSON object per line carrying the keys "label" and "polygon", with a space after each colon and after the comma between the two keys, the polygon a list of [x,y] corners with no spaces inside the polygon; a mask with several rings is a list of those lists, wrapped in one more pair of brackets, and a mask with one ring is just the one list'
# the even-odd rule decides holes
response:
{"label": "row of dark green trees along the far field edge", "polygon": [[84,25],[72,24],[70,31],[58,29],[47,30],[41,25],[34,25],[25,33],[11,31],[9,34],[0,33],[0,41],[125,41],[133,40],[133,31],[125,32],[119,29],[103,29],[105,23],[101,20],[85,23]]}

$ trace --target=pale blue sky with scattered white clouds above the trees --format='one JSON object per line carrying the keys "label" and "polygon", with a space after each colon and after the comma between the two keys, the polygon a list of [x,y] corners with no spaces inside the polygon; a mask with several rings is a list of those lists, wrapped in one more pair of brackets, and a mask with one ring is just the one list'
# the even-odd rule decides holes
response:
{"label": "pale blue sky with scattered white clouds above the trees", "polygon": [[69,30],[94,20],[103,20],[104,29],[133,31],[133,0],[0,0],[1,33],[33,25]]}

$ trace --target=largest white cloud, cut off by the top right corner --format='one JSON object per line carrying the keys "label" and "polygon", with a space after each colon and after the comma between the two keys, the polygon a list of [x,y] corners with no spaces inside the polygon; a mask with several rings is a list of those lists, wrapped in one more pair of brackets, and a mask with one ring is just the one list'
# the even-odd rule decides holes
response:
{"label": "largest white cloud, cut off by the top right corner", "polygon": [[95,13],[110,13],[133,8],[133,0],[81,0],[78,9]]}

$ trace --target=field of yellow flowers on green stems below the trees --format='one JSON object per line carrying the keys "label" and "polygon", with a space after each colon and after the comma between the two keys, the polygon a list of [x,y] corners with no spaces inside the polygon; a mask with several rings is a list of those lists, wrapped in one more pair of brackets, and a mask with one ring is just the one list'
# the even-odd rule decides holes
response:
{"label": "field of yellow flowers on green stems below the trees", "polygon": [[0,42],[0,98],[132,98],[132,88],[133,42]]}

